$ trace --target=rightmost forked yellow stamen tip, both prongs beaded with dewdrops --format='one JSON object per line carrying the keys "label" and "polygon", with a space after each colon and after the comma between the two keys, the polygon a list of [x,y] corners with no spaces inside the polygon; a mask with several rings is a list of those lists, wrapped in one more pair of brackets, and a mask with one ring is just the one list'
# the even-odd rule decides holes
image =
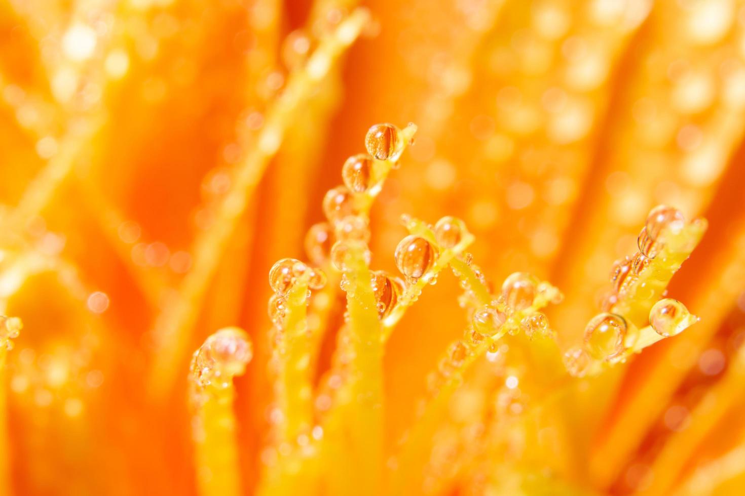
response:
{"label": "rightmost forked yellow stamen tip, both prongs beaded with dewdrops", "polygon": [[[613,288],[603,300],[605,312],[589,321],[583,343],[565,352],[569,373],[600,373],[607,364],[626,361],[633,353],[698,321],[678,300],[660,297],[704,231],[704,219],[686,223],[673,207],[659,205],[650,211],[638,236],[638,252],[613,266]],[[639,317],[647,312],[649,325],[639,329]]]}

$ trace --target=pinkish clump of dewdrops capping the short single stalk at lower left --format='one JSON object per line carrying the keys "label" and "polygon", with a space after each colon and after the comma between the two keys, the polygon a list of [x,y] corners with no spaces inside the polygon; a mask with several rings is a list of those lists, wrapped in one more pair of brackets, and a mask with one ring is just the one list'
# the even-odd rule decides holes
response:
{"label": "pinkish clump of dewdrops capping the short single stalk at lower left", "polygon": [[253,358],[253,344],[243,329],[225,327],[209,336],[194,352],[191,373],[200,386],[227,387],[229,380],[243,373]]}

